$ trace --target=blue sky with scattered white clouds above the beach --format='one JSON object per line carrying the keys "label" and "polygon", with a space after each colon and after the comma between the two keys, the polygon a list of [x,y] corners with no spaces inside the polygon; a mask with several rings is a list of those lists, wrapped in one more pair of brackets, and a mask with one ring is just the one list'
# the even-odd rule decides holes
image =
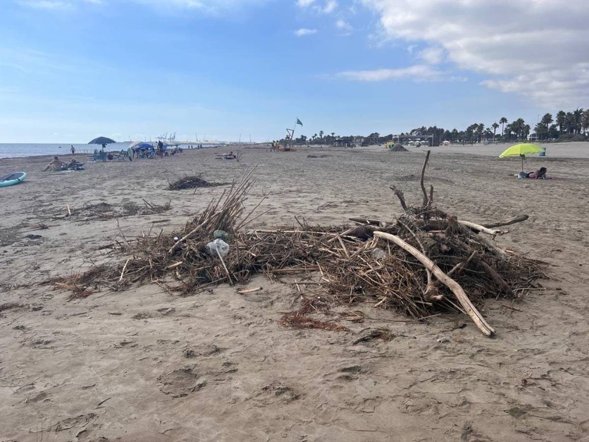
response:
{"label": "blue sky with scattered white clouds above the beach", "polygon": [[533,127],[589,107],[585,0],[0,6],[0,143]]}

